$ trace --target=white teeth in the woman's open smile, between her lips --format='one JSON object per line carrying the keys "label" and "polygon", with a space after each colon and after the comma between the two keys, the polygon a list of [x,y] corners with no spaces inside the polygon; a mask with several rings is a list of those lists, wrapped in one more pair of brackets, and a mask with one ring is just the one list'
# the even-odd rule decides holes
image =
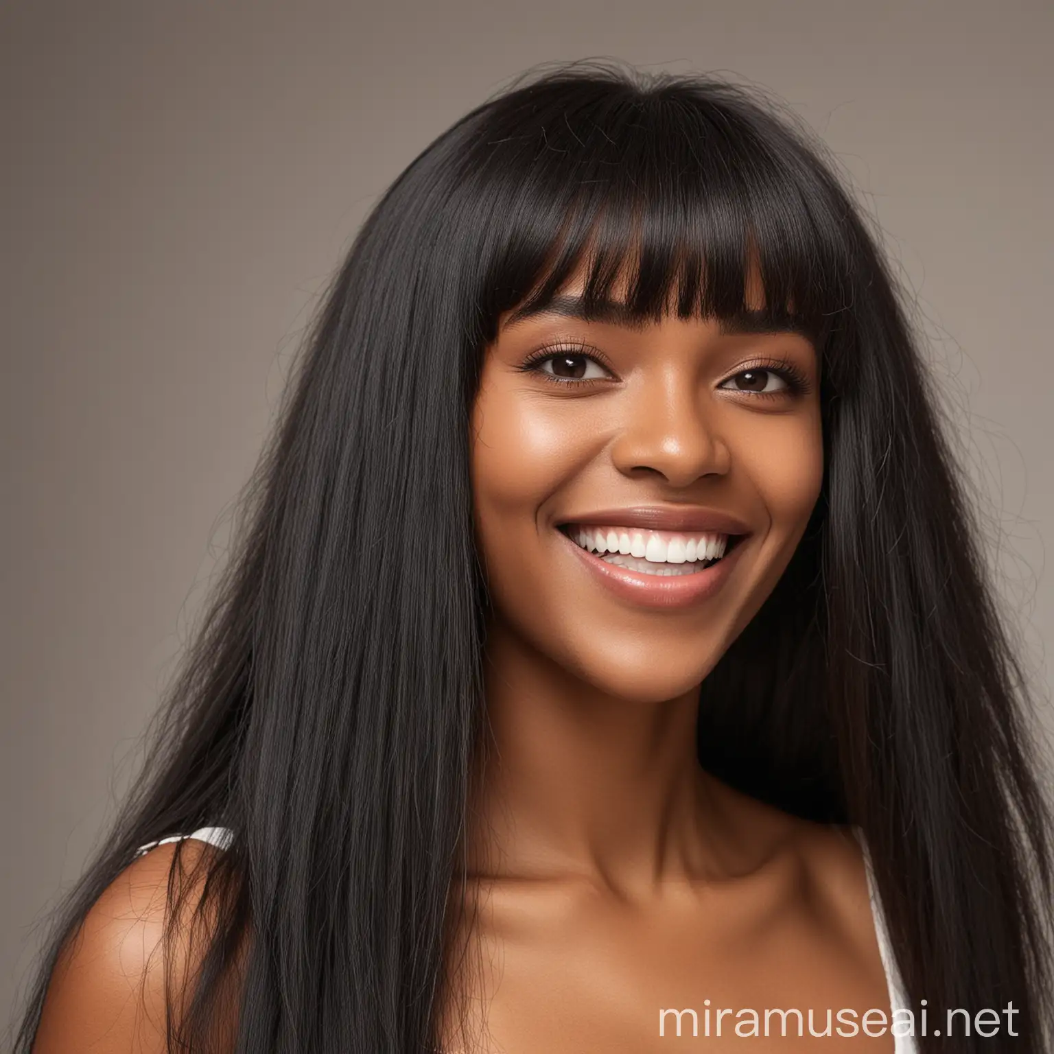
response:
{"label": "white teeth in the woman's open smile, between her lips", "polygon": [[562,524],[575,545],[607,564],[640,574],[698,574],[727,555],[745,534],[642,530],[637,527]]}

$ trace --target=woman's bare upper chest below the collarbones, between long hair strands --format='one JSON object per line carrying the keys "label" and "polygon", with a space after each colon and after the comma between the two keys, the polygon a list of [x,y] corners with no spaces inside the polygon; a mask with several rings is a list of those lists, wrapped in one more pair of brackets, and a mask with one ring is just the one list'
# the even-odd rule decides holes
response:
{"label": "woman's bare upper chest below the collarbones, between long hair strands", "polygon": [[894,1049],[877,954],[807,909],[513,902],[474,932],[463,983],[479,1046],[451,1052]]}

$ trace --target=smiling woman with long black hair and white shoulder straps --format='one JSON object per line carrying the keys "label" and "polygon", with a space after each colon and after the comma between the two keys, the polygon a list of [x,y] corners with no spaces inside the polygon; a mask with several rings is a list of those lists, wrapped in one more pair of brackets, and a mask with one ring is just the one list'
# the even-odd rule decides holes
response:
{"label": "smiling woman with long black hair and white shoulder straps", "polygon": [[1048,1050],[962,495],[787,115],[593,66],[479,108],[332,286],[21,1048]]}

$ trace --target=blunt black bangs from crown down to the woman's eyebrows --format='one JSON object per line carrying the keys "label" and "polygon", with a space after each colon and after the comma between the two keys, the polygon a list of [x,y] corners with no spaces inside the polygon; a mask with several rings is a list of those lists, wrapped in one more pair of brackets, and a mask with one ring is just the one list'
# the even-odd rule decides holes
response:
{"label": "blunt black bangs from crown down to the woman's eyebrows", "polygon": [[574,276],[587,313],[619,281],[630,317],[749,320],[818,350],[853,301],[838,191],[735,85],[572,73],[468,124],[467,182],[493,198],[476,257],[488,341]]}

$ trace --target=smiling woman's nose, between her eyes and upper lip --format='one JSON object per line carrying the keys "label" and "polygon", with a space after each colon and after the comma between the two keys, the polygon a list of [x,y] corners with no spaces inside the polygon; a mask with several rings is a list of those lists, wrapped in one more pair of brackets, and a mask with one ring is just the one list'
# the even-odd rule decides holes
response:
{"label": "smiling woman's nose, between her eyes and upper lip", "polygon": [[698,384],[674,376],[657,378],[633,392],[625,406],[624,426],[611,447],[620,472],[658,473],[678,488],[701,476],[728,472],[728,447],[717,434],[715,422],[707,419]]}

